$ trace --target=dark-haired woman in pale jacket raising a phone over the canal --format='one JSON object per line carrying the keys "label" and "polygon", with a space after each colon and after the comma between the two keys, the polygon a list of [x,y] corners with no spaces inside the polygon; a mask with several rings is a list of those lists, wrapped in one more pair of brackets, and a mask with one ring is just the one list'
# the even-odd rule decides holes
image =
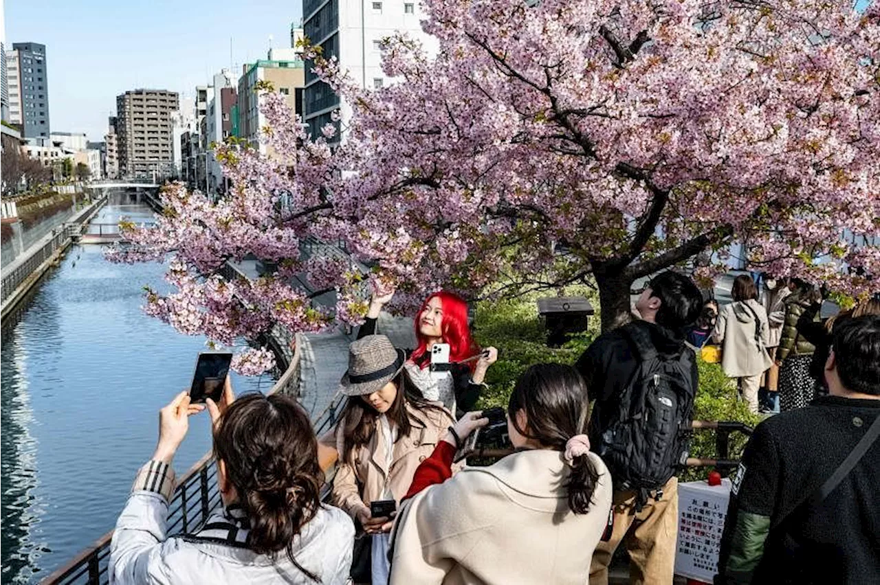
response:
{"label": "dark-haired woman in pale jacket raising a phone over the canal", "polygon": [[[213,421],[222,507],[198,531],[169,537],[172,460],[188,417],[208,409]],[[137,473],[110,545],[110,582],[327,583],[348,580],[355,528],[320,502],[324,473],[308,415],[282,396],[223,398],[192,404],[178,394],[159,413],[159,439]]]}

